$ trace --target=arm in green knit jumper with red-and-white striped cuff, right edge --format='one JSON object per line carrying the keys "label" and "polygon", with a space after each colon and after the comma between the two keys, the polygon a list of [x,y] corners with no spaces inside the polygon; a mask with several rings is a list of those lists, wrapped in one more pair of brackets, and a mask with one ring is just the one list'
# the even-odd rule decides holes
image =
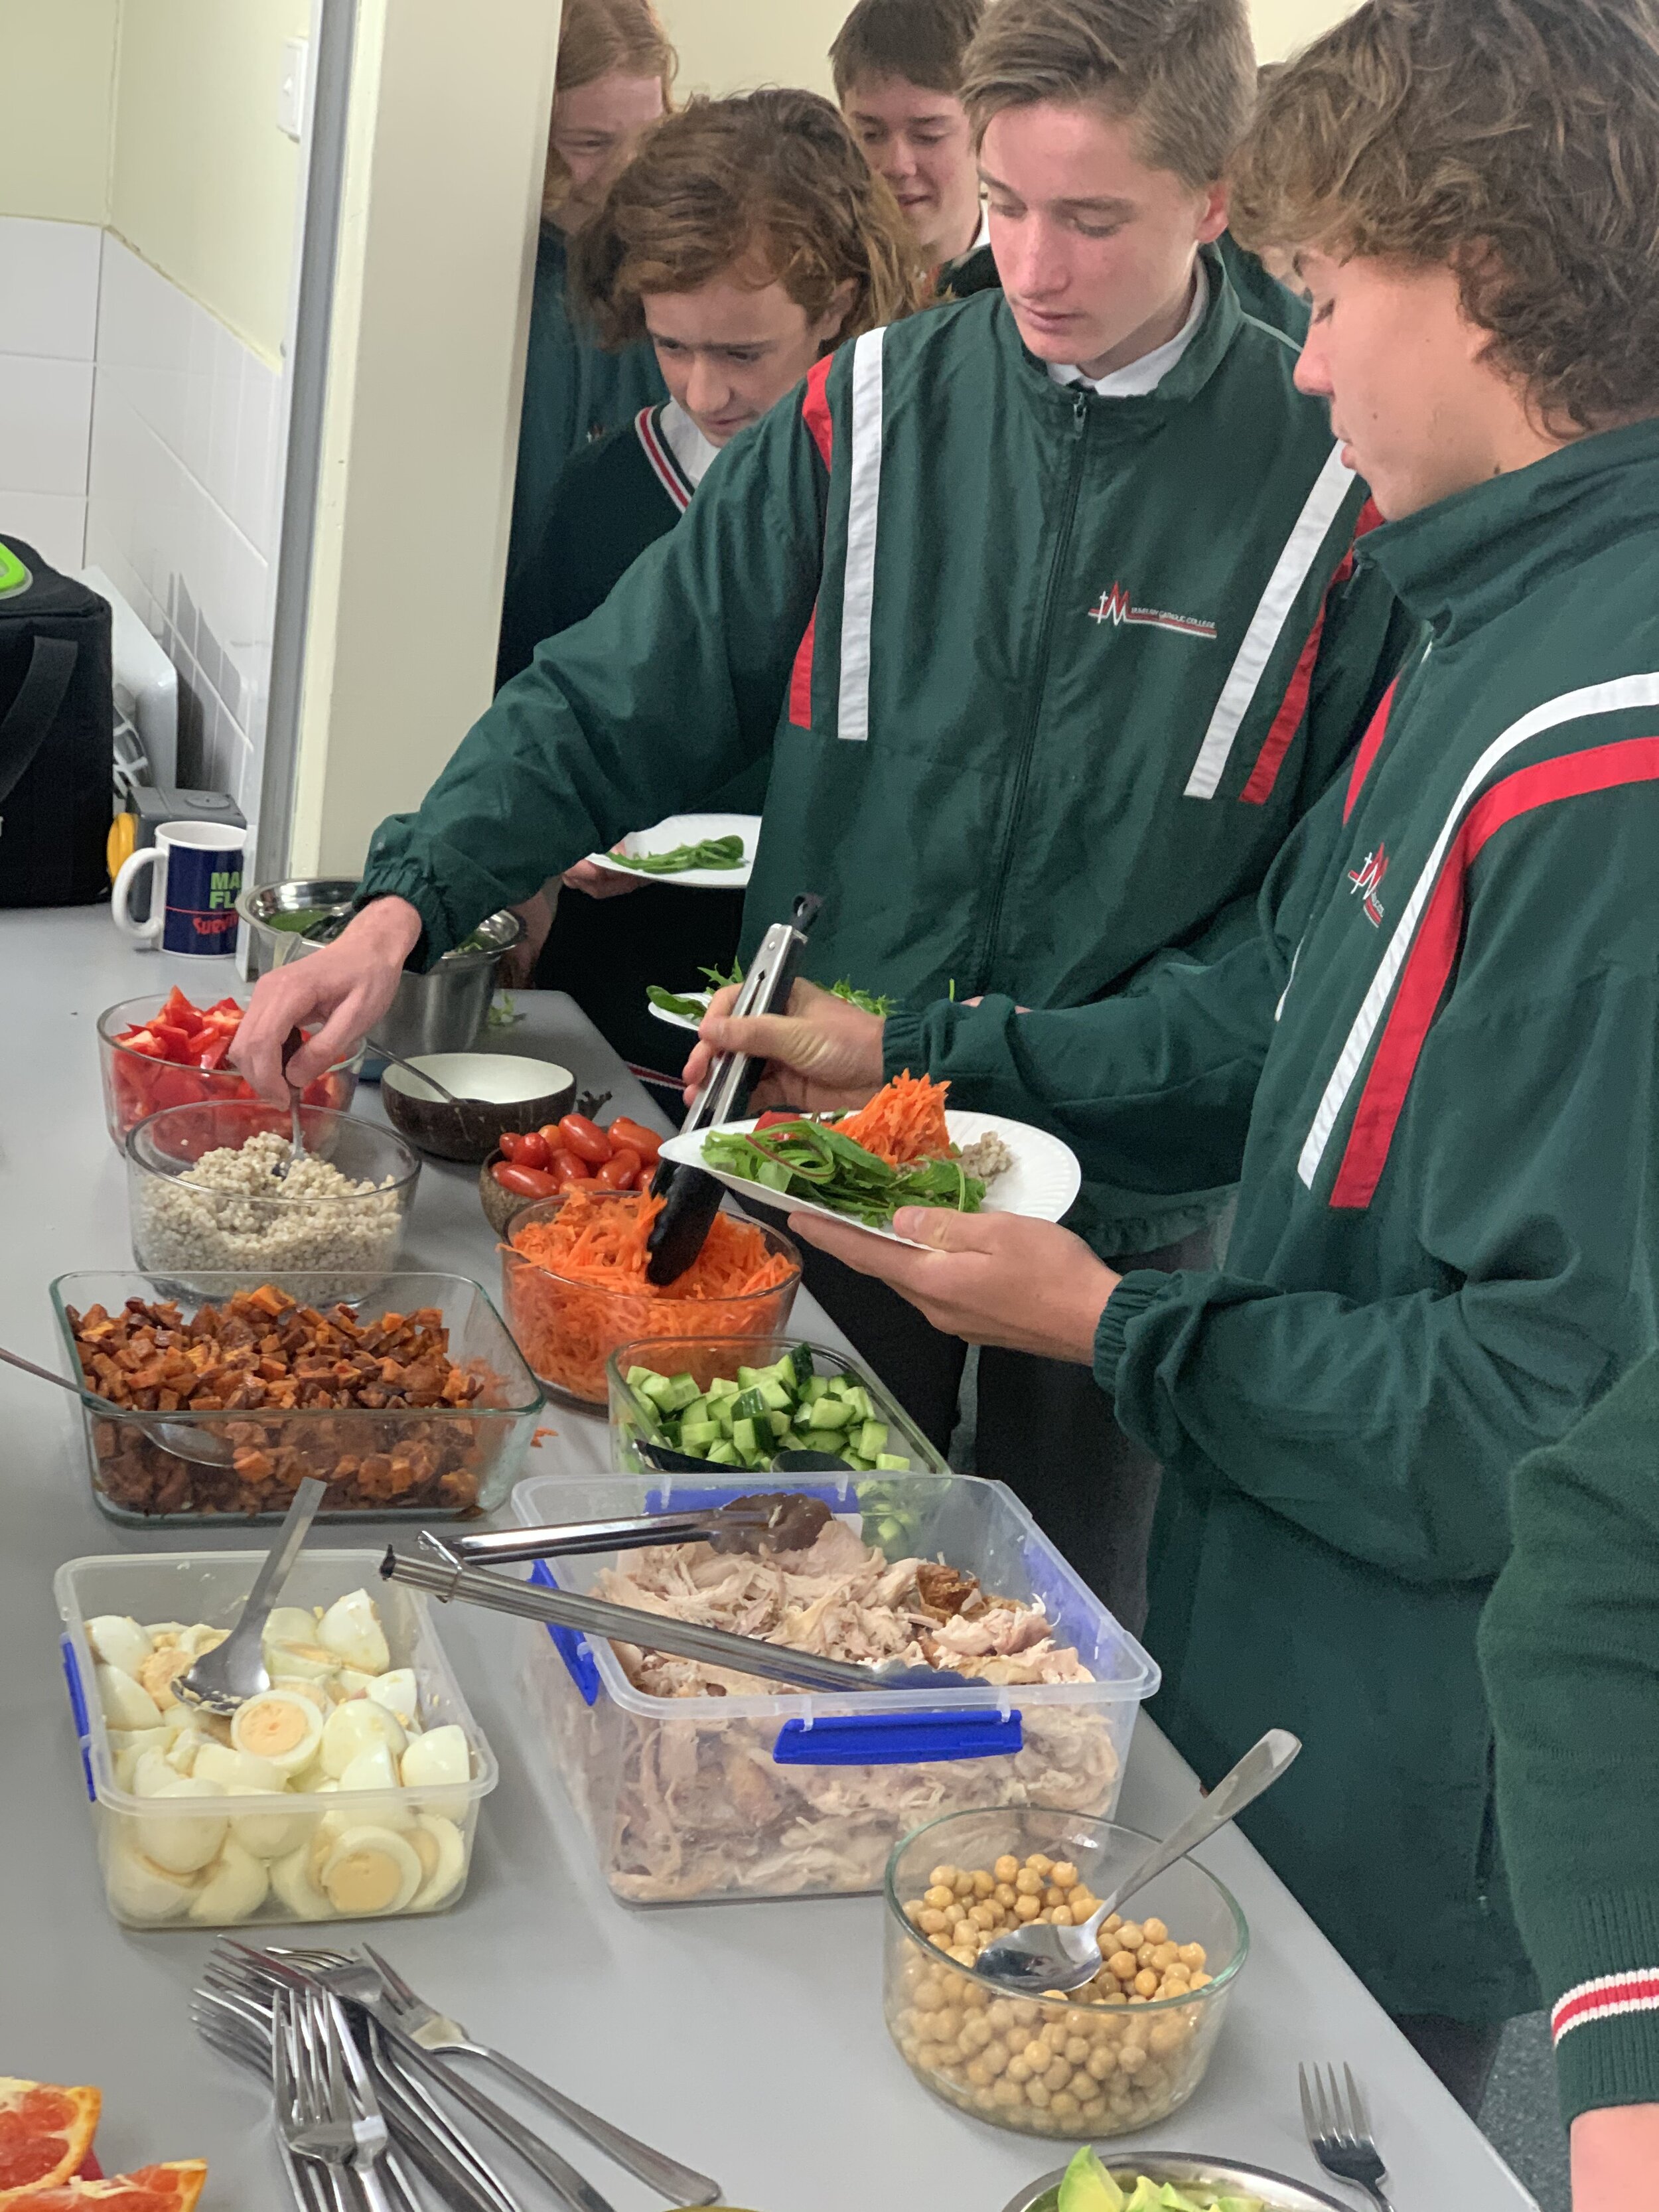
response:
{"label": "arm in green knit jumper with red-and-white striped cuff, right edge", "polygon": [[1480,1624],[1498,1825],[1551,2006],[1573,2208],[1630,2212],[1659,2199],[1659,1356],[1522,1460],[1511,1511]]}

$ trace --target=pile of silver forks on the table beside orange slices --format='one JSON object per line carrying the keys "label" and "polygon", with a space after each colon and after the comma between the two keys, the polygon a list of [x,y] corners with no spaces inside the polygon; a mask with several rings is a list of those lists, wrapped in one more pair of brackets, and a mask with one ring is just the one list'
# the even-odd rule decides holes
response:
{"label": "pile of silver forks on the table beside orange slices", "polygon": [[484,2095],[453,2057],[480,2059],[555,2112],[670,2205],[712,2205],[708,2174],[588,2112],[515,2059],[473,2042],[363,1944],[254,1951],[221,1938],[190,2017],[215,2051],[270,2081],[276,2143],[299,2212],[520,2212],[456,2119],[460,2106],[507,2146],[566,2212],[613,2212],[533,2128]]}

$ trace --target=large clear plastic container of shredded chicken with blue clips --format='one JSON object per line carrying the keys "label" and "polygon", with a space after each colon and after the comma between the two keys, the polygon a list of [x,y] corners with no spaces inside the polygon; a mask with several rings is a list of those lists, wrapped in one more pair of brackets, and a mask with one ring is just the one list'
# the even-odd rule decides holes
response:
{"label": "large clear plastic container of shredded chicken with blue clips", "polygon": [[[526,1528],[684,1513],[776,1486],[531,1475]],[[1108,1818],[1159,1670],[1002,1482],[951,1473],[799,1484],[834,1520],[781,1559],[708,1544],[538,1562],[533,1582],[796,1644],[956,1668],[964,1688],[825,1694],[524,1626],[531,1714],[624,1905],[880,1889],[894,1843],[947,1812]],[[865,1542],[865,1535],[869,1542]]]}

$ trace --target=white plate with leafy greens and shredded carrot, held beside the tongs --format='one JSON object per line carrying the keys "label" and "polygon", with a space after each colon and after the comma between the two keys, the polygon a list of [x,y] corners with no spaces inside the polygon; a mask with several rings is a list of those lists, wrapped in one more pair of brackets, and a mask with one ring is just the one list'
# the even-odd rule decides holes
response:
{"label": "white plate with leafy greens and shredded carrot, held beside the tongs", "polygon": [[664,1159],[703,1168],[743,1199],[825,1214],[894,1243],[900,1206],[1060,1221],[1082,1188],[1071,1146],[1029,1121],[953,1113],[949,1084],[896,1075],[856,1113],[763,1113],[681,1130]]}

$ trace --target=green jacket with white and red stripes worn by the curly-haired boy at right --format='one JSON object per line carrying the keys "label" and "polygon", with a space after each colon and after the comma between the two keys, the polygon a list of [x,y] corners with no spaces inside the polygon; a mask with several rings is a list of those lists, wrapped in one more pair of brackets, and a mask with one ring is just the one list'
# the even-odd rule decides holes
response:
{"label": "green jacket with white and red stripes worn by the curly-haired boy at right", "polygon": [[[1201,1774],[1376,1995],[1537,2002],[1475,1624],[1515,1462],[1655,1345],[1659,425],[1376,531],[1431,630],[1252,940],[1071,1015],[896,1015],[889,1066],[1150,1188],[1241,1170],[1225,1272],[1128,1274],[1095,1374],[1166,1469],[1148,1644]],[[1593,1809],[1586,1809],[1593,1818]]]}

